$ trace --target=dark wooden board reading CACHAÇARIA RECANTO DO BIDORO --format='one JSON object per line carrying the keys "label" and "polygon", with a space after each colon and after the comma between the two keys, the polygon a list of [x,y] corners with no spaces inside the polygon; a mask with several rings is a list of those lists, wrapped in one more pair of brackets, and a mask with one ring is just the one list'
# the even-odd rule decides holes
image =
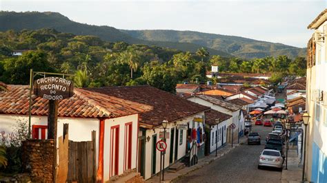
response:
{"label": "dark wooden board reading CACHA\u00c7ARIA RECANTO DO BIDORO", "polygon": [[62,100],[74,95],[71,80],[59,77],[39,78],[34,81],[34,94],[47,100]]}

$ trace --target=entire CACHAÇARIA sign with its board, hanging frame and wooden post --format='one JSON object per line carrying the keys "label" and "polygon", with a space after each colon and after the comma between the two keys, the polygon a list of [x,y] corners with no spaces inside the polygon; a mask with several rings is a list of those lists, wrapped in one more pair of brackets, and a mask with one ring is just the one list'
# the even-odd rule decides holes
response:
{"label": "entire CACHA\u00c7ARIA sign with its board, hanging frame and wooden post", "polygon": [[[39,74],[39,72],[36,72]],[[53,73],[42,73],[43,78],[34,81],[34,95],[48,100],[48,139],[54,141],[54,152],[52,162],[52,180],[57,182],[57,121],[58,121],[58,104],[59,100],[70,98],[74,95],[74,84],[65,78],[55,76],[46,77],[46,74],[62,75]],[[33,75],[33,76],[32,76]],[[34,72],[31,70],[31,78],[34,78]],[[31,79],[31,81],[32,81]],[[32,90],[32,87],[31,87]],[[30,109],[31,96],[30,96]],[[29,114],[31,116],[31,112]],[[30,123],[29,123],[30,124]],[[30,128],[30,127],[29,127]]]}

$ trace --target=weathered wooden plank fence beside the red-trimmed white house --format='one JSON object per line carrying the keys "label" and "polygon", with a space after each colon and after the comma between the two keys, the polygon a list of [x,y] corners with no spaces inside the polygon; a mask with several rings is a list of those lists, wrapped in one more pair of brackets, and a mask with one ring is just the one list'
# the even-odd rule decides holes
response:
{"label": "weathered wooden plank fence beside the red-trimmed white house", "polygon": [[[65,124],[66,125],[66,124]],[[65,130],[65,128],[67,128]],[[68,131],[68,125],[64,126],[64,133]],[[66,131],[66,132],[65,132]],[[64,134],[65,136],[65,134]],[[66,137],[66,136],[65,136]],[[58,181],[65,180],[64,182],[96,182],[97,179],[97,147],[96,147],[96,133],[92,131],[92,141],[86,142],[74,142],[72,140],[63,140],[63,142],[68,141],[68,148],[65,146],[60,146],[59,143],[59,174]],[[63,152],[61,152],[63,151]],[[65,153],[65,151],[68,151]],[[66,155],[66,158],[61,157],[60,154]],[[61,159],[63,161],[61,161]],[[68,162],[65,161],[68,159]],[[68,169],[64,167],[68,166]],[[61,169],[63,168],[63,170]]]}

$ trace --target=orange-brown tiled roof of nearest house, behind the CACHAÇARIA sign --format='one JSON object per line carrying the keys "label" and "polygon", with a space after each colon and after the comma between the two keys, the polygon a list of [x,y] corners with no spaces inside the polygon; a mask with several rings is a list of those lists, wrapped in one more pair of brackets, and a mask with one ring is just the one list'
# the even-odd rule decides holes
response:
{"label": "orange-brown tiled roof of nearest house, behind the CACHA\u00c7ARIA sign", "polygon": [[[58,116],[79,118],[116,118],[152,109],[121,98],[74,89],[75,95],[59,101]],[[0,114],[27,115],[29,87],[10,85],[10,90],[0,91]],[[48,115],[48,100],[32,95],[32,115]]]}

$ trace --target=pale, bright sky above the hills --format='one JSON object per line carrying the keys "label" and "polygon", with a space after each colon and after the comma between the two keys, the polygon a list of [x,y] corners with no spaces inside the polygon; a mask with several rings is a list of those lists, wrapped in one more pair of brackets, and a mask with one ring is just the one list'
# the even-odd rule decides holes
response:
{"label": "pale, bright sky above the hills", "polygon": [[59,12],[72,21],[124,30],[193,30],[306,47],[327,0],[0,0],[0,10]]}

